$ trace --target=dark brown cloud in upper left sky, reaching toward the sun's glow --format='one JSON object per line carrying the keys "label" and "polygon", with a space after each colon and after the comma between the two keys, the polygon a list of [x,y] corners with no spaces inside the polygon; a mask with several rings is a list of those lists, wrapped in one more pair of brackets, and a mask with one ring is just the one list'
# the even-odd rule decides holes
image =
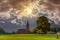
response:
{"label": "dark brown cloud in upper left sky, reaching toward the sun's glow", "polygon": [[28,0],[0,0],[0,11],[7,11],[9,8],[22,9],[24,5],[27,6],[27,1]]}

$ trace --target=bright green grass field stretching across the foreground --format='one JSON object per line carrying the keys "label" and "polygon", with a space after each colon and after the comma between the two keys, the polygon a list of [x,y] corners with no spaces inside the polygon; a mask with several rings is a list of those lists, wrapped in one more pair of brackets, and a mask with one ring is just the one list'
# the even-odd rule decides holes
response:
{"label": "bright green grass field stretching across the foreground", "polygon": [[56,34],[12,34],[0,35],[0,40],[60,40]]}

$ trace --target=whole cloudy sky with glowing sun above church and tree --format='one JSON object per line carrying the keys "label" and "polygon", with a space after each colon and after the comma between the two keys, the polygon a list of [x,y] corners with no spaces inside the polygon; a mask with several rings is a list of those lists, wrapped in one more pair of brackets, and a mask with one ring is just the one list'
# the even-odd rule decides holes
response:
{"label": "whole cloudy sky with glowing sun above church and tree", "polygon": [[0,0],[0,27],[8,32],[25,28],[27,20],[32,30],[41,15],[59,25],[60,0]]}

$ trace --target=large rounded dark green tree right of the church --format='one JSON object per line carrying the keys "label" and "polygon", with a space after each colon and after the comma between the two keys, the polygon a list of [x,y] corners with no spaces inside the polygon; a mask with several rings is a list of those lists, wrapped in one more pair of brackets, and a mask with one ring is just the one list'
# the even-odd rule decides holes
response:
{"label": "large rounded dark green tree right of the church", "polygon": [[37,27],[34,29],[36,33],[47,33],[48,31],[50,31],[50,23],[47,17],[41,16],[37,19],[36,22],[37,22]]}

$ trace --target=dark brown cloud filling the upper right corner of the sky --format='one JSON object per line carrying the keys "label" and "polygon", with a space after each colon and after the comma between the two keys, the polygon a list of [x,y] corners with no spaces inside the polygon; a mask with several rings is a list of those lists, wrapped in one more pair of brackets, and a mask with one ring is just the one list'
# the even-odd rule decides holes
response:
{"label": "dark brown cloud filling the upper right corner of the sky", "polygon": [[40,5],[44,5],[46,10],[55,11],[60,10],[60,0],[40,1]]}

